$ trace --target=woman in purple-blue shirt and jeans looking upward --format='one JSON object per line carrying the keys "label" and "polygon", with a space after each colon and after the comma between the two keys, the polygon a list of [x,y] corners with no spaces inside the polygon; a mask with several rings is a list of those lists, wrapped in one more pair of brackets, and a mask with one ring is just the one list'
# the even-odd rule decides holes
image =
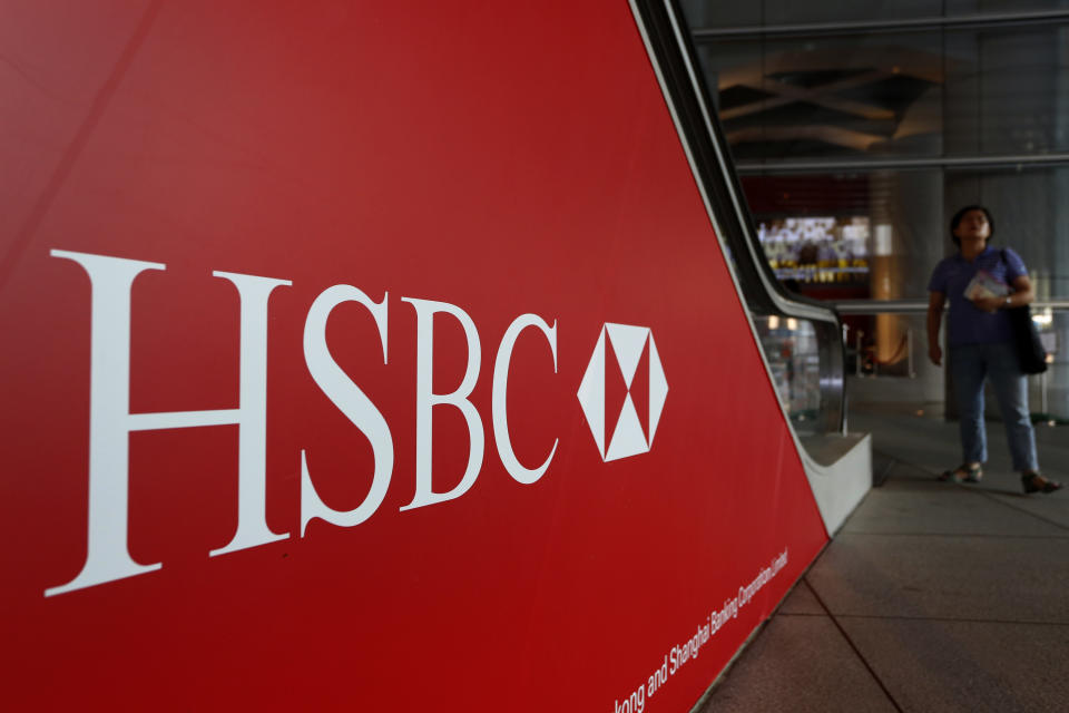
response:
{"label": "woman in purple-blue shirt and jeans looking upward", "polygon": [[1021,371],[1013,328],[1006,312],[1036,299],[1028,271],[1009,247],[997,250],[988,245],[994,222],[983,206],[958,211],[950,222],[950,234],[958,254],[944,257],[935,266],[928,285],[928,354],[936,367],[942,364],[939,326],[949,297],[947,343],[961,417],[963,459],[940,479],[979,482],[983,477],[988,459],[983,382],[988,379],[1002,410],[1013,470],[1021,473],[1021,487],[1024,492],[1053,492],[1061,484],[1039,473],[1036,433],[1028,410],[1028,380]]}

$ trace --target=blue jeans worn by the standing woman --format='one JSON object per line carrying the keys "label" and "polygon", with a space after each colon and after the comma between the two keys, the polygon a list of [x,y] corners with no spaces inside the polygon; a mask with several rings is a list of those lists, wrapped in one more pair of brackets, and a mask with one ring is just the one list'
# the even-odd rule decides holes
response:
{"label": "blue jeans worn by the standing woman", "polygon": [[954,397],[961,414],[961,448],[967,463],[988,460],[983,423],[983,380],[991,380],[1002,409],[1013,470],[1038,470],[1036,433],[1028,413],[1028,378],[1021,372],[1012,342],[965,344],[950,349]]}

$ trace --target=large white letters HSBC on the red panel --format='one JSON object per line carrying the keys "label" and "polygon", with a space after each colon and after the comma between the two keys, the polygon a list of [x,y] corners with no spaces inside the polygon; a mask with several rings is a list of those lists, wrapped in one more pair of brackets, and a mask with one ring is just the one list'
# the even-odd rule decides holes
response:
{"label": "large white letters HSBC on the red panel", "polygon": [[[159,569],[163,564],[134,561],[127,545],[129,434],[175,428],[236,424],[238,427],[237,530],[229,543],[210,551],[224,555],[286,539],[273,533],[266,519],[267,450],[267,302],[272,293],[292,283],[256,275],[214,272],[229,281],[241,297],[241,384],[238,407],[209,411],[130,413],[130,304],[134,280],[149,270],[166,270],[160,263],[70,251],[51,251],[53,257],[78,263],[89,275],[91,297],[91,365],[89,385],[89,505],[86,561],[67,584],[45,590],[52,596]],[[389,293],[375,302],[351,285],[334,285],[321,293],[308,310],[304,325],[304,359],[308,373],[331,402],[370,441],[374,455],[371,488],[360,506],[336,510],[315,489],[310,455],[301,451],[301,536],[308,522],[320,518],[339,527],[353,527],[370,518],[382,505],[393,476],[393,438],[382,412],[361,388],[337,365],[326,344],[326,322],[340,304],[363,305],[379,330],[383,363],[389,363]],[[470,400],[481,369],[479,332],[459,306],[445,302],[402,297],[416,314],[416,423],[415,496],[403,506],[410,510],[445,502],[467,492],[482,469],[486,438],[482,419]],[[468,365],[460,387],[452,393],[432,390],[434,315],[449,315],[463,328]],[[520,333],[534,329],[543,335],[553,355],[557,372],[557,323],[550,326],[534,314],[513,320],[498,346],[493,364],[491,421],[498,457],[506,471],[521,484],[533,484],[549,468],[559,441],[545,461],[527,468],[512,451],[506,410],[509,367]],[[447,492],[433,487],[432,441],[434,407],[452,407],[464,418],[469,455],[460,482]]]}

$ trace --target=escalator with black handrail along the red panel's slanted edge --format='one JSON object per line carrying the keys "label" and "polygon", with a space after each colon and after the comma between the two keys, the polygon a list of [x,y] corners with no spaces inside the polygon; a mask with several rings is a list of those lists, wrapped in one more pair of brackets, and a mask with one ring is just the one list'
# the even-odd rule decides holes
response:
{"label": "escalator with black handrail along the red panel's slanted edge", "polygon": [[834,533],[867,491],[872,472],[871,439],[847,431],[843,323],[834,309],[790,293],[773,274],[678,3],[636,0],[635,8],[825,527]]}

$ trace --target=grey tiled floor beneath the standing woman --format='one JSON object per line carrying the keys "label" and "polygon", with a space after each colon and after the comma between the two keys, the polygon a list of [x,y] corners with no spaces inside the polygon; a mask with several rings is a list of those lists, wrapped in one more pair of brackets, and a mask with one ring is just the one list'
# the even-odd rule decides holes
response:
{"label": "grey tiled floor beneath the standing woman", "polygon": [[[1069,711],[1069,488],[1024,496],[1000,423],[980,485],[935,481],[957,424],[857,409],[886,475],[702,713]],[[1037,430],[1069,481],[1069,427]]]}

